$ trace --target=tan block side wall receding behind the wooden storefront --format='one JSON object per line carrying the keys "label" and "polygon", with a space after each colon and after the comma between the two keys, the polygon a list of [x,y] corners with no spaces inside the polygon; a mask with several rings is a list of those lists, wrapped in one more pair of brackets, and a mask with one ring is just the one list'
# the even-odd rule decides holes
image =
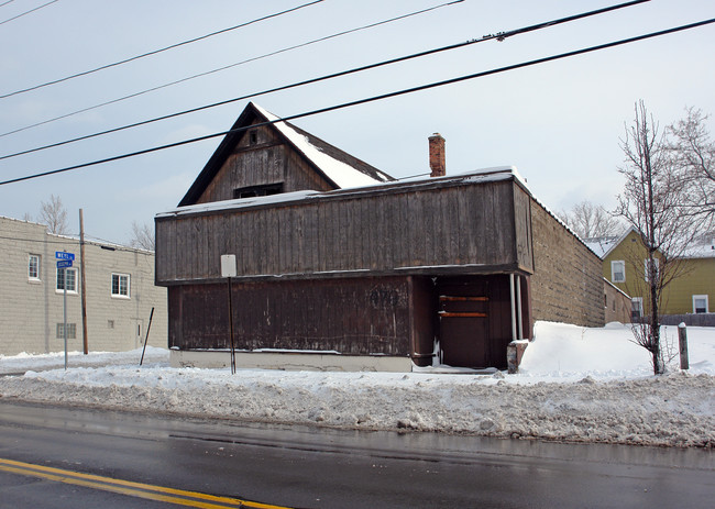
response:
{"label": "tan block side wall receding behind the wooden storefront", "polygon": [[531,229],[534,319],[603,327],[601,258],[534,200]]}

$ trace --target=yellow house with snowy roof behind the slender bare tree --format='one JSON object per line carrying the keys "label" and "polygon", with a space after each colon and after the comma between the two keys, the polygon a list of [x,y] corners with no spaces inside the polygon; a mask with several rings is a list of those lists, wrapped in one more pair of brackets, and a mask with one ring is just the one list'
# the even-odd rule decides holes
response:
{"label": "yellow house with snowy roof behind the slender bare tree", "polygon": [[[588,245],[603,259],[603,276],[631,297],[631,318],[649,313],[647,251],[634,229],[620,237],[591,240]],[[659,256],[657,256],[659,258]],[[656,261],[657,268],[660,259]],[[715,245],[713,241],[689,246],[674,265],[674,277],[663,290],[661,314],[713,312],[715,299]],[[672,267],[672,265],[671,265]],[[672,268],[671,268],[672,269]],[[673,274],[663,274],[670,278]]]}

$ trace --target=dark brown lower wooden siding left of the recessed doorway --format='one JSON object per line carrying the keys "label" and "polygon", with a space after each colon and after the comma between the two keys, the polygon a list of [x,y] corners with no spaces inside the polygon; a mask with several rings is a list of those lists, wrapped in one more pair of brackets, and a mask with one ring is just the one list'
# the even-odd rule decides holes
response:
{"label": "dark brown lower wooden siding left of the recessed doorway", "polygon": [[[408,277],[248,283],[232,290],[238,350],[411,354]],[[230,347],[228,283],[174,286],[168,300],[169,346]]]}

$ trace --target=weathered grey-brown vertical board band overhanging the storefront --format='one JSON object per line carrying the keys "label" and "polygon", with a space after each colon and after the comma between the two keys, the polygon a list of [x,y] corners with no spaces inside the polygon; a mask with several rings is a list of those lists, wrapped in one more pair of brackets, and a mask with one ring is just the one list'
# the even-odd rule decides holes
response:
{"label": "weathered grey-brown vertical board band overhanging the storefront", "polygon": [[160,285],[220,278],[531,272],[530,197],[514,180],[332,191],[156,219]]}

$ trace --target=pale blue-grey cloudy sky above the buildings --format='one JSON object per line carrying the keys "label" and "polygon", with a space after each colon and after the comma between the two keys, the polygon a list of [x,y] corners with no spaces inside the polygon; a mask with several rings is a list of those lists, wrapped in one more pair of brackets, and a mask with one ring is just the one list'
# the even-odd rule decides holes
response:
{"label": "pale blue-grey cloudy sky above the buildings", "polygon": [[[0,0],[0,96],[309,3]],[[299,10],[53,86],[0,98],[0,157],[273,87],[618,3],[581,0],[323,0]],[[429,12],[254,59],[283,48]],[[651,0],[619,11],[253,98],[288,117],[372,96],[715,18],[712,0]],[[516,166],[552,210],[613,208],[620,139],[642,99],[663,129],[685,108],[715,113],[715,24],[557,62],[295,120],[396,177],[429,171],[428,142],[447,140],[447,174]],[[251,60],[252,59],[252,60]],[[4,134],[223,66],[229,69]],[[219,133],[246,100],[0,161],[0,180]],[[715,120],[707,128],[715,132]],[[3,135],[4,134],[4,135]],[[220,137],[0,185],[0,215],[38,219],[61,197],[70,233],[127,243],[132,223],[177,206]]]}

